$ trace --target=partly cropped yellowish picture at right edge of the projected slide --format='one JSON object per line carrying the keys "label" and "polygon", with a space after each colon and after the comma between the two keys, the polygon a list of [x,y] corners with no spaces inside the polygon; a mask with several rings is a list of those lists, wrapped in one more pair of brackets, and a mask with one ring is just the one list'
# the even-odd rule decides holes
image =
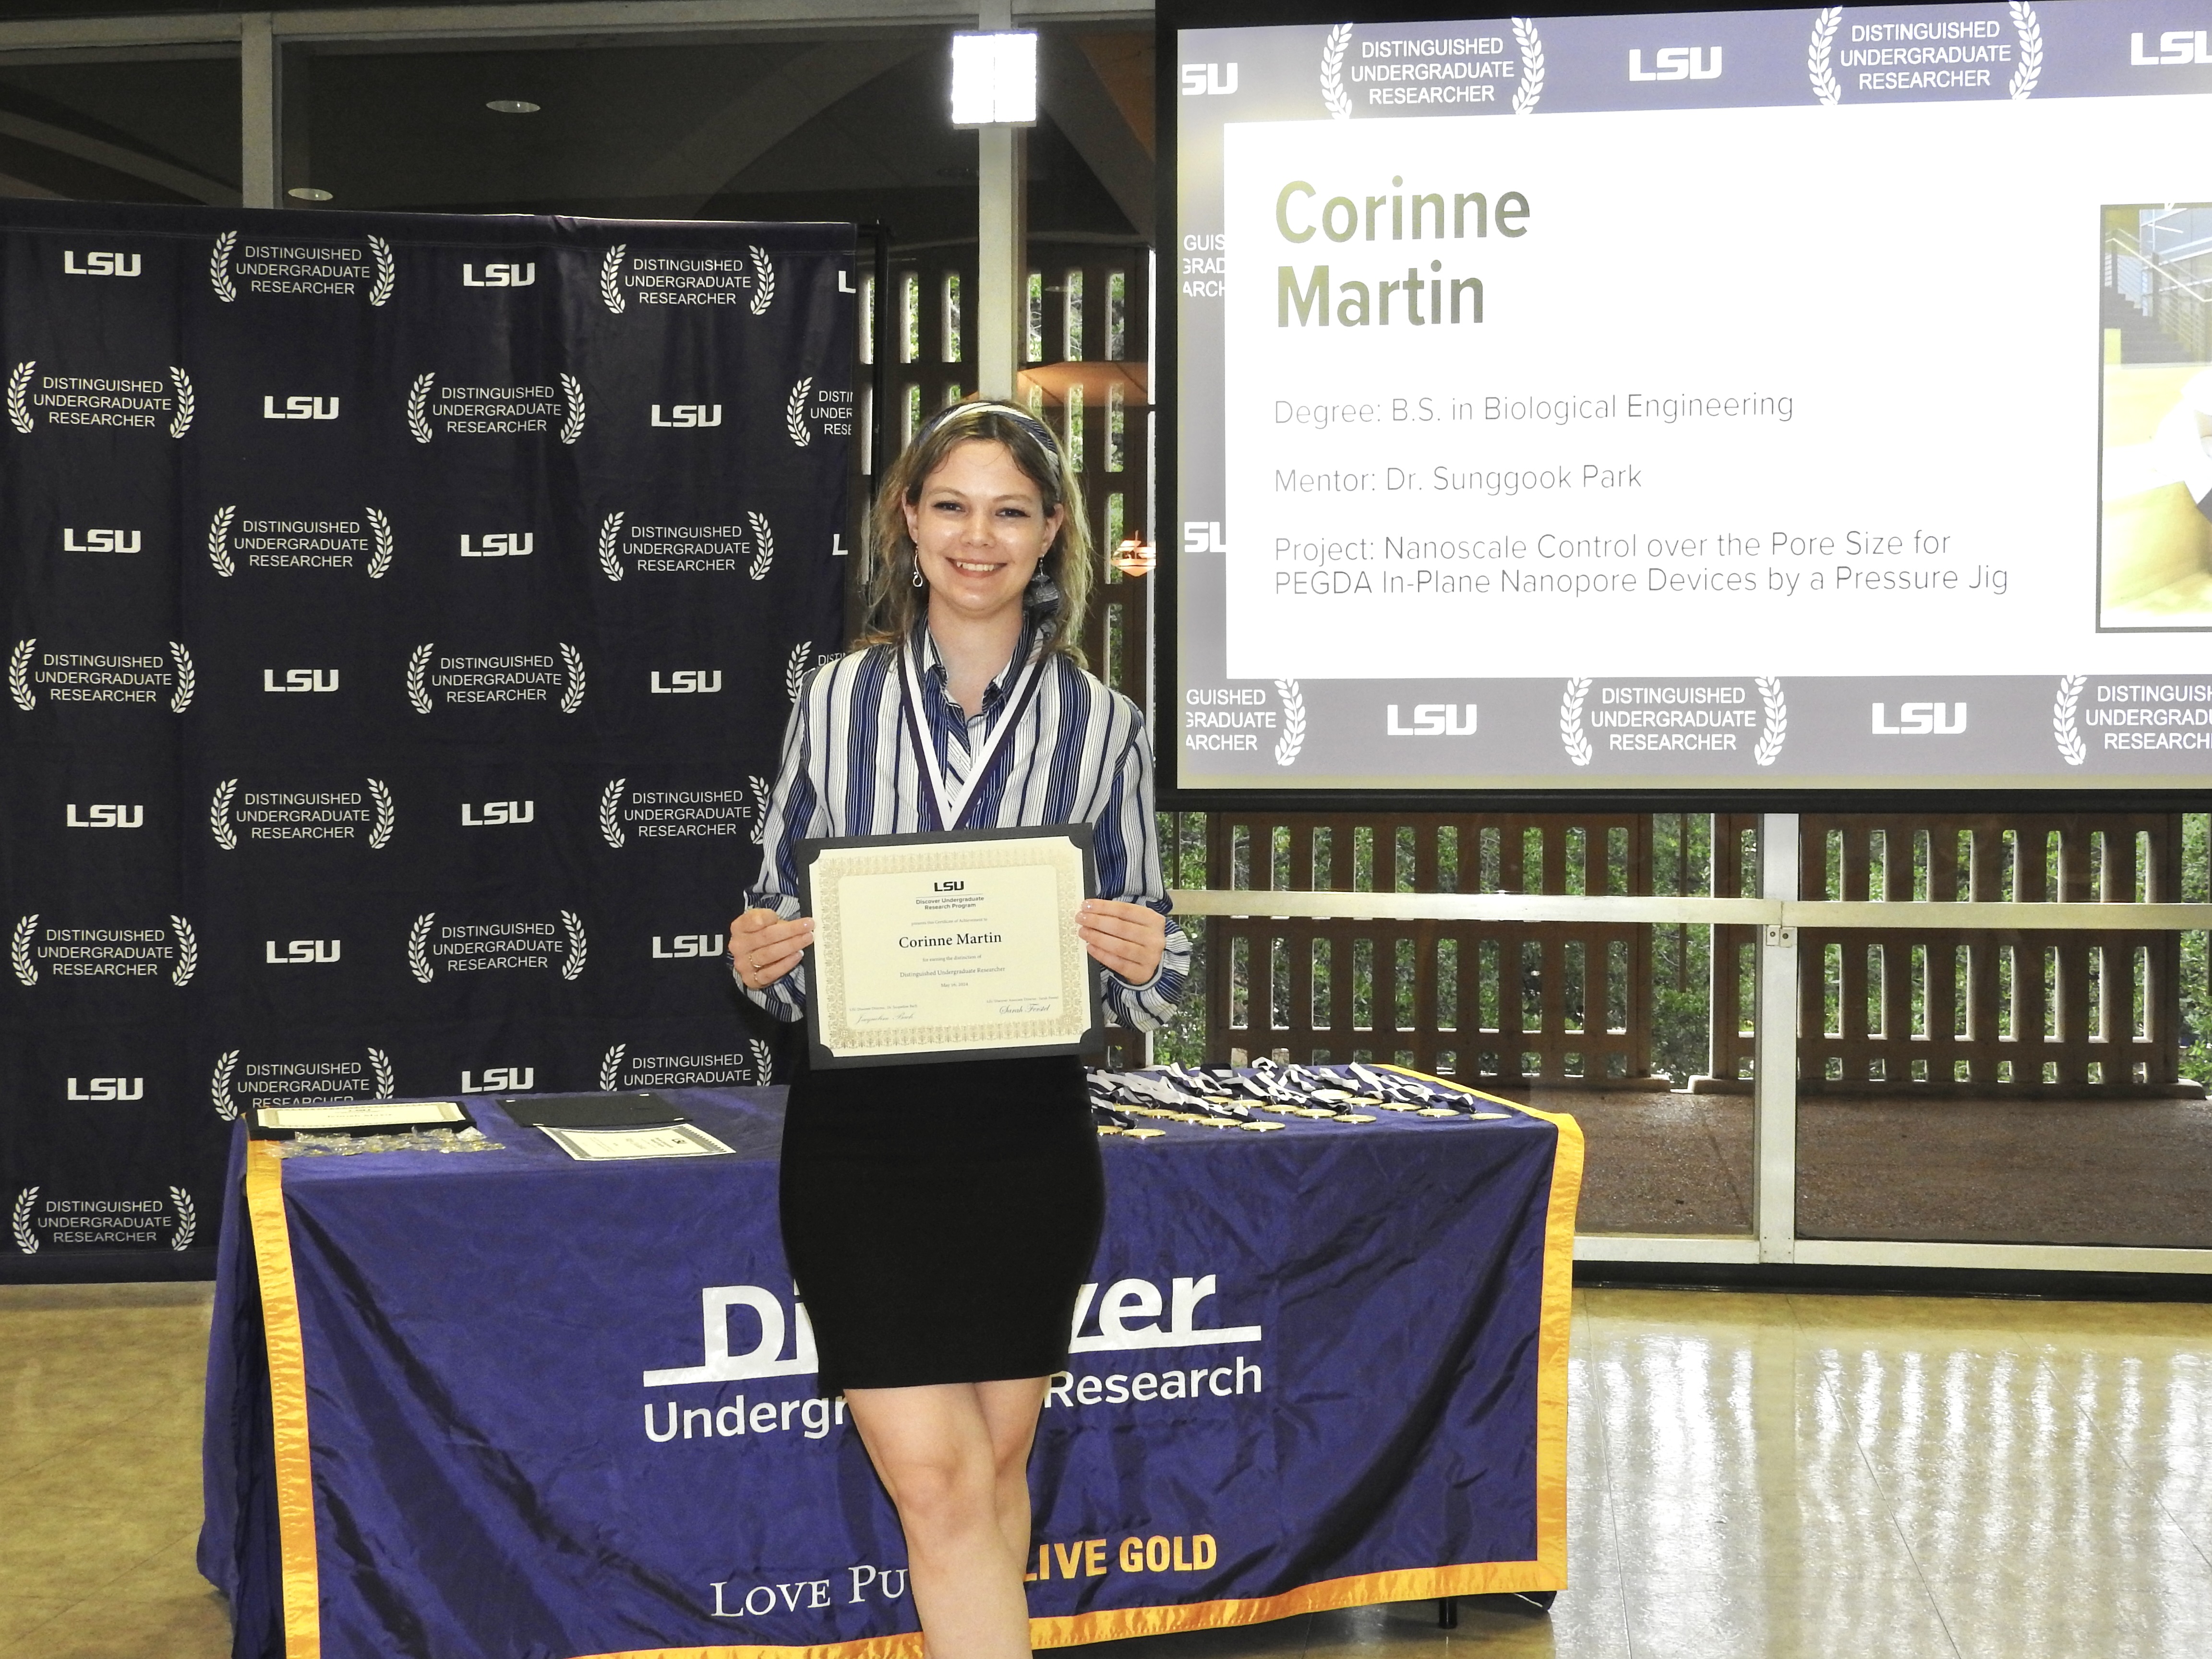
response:
{"label": "partly cropped yellowish picture at right edge of the projected slide", "polygon": [[2212,204],[2104,210],[2097,626],[2212,628]]}

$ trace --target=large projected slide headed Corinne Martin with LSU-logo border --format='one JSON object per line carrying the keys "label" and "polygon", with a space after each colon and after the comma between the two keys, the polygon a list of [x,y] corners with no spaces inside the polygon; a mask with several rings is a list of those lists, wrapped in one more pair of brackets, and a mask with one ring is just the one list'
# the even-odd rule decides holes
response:
{"label": "large projected slide headed Corinne Martin with LSU-logo border", "polygon": [[1177,783],[2203,787],[2205,20],[1179,33]]}

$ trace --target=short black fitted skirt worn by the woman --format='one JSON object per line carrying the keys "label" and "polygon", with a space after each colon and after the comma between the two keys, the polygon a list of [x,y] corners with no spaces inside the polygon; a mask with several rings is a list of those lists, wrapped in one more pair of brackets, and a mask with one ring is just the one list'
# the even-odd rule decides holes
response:
{"label": "short black fitted skirt worn by the woman", "polygon": [[1064,1369],[1106,1219],[1082,1062],[801,1060],[781,1214],[823,1394]]}

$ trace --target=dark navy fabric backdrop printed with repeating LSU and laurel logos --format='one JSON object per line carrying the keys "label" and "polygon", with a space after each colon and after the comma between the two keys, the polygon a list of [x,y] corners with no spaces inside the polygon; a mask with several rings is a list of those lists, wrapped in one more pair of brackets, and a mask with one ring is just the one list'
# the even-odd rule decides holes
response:
{"label": "dark navy fabric backdrop printed with repeating LSU and laurel logos", "polygon": [[852,270],[7,204],[0,1276],[212,1245],[257,1102],[765,1082],[721,933],[841,648]]}

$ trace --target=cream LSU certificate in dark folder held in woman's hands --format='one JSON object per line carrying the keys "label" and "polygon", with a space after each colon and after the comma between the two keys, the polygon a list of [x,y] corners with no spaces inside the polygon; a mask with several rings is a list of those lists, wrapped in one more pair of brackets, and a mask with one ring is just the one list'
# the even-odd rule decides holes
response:
{"label": "cream LSU certificate in dark folder held in woman's hands", "polygon": [[1075,911],[1091,825],[799,843],[816,1066],[1073,1055],[1104,1042]]}

